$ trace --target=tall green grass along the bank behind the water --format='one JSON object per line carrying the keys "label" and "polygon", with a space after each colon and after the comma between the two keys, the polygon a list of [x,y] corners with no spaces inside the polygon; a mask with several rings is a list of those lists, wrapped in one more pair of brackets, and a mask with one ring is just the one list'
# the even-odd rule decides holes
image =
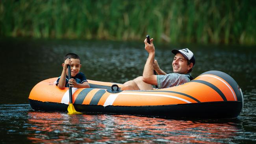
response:
{"label": "tall green grass along the bank behind the water", "polygon": [[1,0],[0,36],[255,44],[255,0]]}

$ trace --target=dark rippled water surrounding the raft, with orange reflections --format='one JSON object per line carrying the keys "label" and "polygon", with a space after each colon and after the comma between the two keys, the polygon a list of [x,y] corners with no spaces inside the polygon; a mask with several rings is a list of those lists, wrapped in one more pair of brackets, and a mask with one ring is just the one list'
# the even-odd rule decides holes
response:
{"label": "dark rippled water surrounding the raft, with orange reflections", "polygon": [[124,83],[141,76],[147,59],[142,42],[1,39],[1,143],[254,143],[256,140],[256,48],[155,43],[156,59],[172,72],[172,48],[189,47],[196,56],[192,76],[223,71],[243,90],[244,111],[234,119],[148,118],[128,115],[68,115],[33,111],[30,90],[61,74],[63,55],[81,57],[87,79]]}

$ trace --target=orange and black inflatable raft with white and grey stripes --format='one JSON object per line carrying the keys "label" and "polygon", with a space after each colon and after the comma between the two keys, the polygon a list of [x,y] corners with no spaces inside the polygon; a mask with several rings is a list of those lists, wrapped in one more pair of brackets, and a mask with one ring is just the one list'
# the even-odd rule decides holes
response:
{"label": "orange and black inflatable raft with white and grey stripes", "polygon": [[[28,98],[33,110],[67,111],[69,89],[58,89],[56,80],[46,79],[33,87]],[[236,118],[243,108],[243,93],[236,81],[219,71],[204,72],[182,85],[157,90],[118,90],[122,84],[88,82],[91,88],[72,88],[74,107],[82,113]]]}

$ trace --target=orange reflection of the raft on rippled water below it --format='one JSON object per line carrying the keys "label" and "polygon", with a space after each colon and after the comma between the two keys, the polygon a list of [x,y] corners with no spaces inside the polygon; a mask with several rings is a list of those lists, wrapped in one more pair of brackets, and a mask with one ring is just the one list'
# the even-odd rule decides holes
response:
{"label": "orange reflection of the raft on rippled water below it", "polygon": [[[232,122],[165,120],[127,115],[29,112],[28,140],[52,142],[225,142],[242,131]],[[231,120],[232,121],[232,120]]]}

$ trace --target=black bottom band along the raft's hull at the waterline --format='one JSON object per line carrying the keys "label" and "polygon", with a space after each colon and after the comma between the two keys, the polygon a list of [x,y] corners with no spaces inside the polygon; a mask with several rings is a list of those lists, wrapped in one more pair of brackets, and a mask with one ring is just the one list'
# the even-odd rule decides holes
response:
{"label": "black bottom band along the raft's hull at the waterline", "polygon": [[[36,111],[66,111],[67,104],[30,100],[32,109]],[[158,106],[113,106],[74,105],[76,111],[94,114],[127,114],[164,118],[236,118],[241,112],[242,102],[221,101],[186,103]]]}

